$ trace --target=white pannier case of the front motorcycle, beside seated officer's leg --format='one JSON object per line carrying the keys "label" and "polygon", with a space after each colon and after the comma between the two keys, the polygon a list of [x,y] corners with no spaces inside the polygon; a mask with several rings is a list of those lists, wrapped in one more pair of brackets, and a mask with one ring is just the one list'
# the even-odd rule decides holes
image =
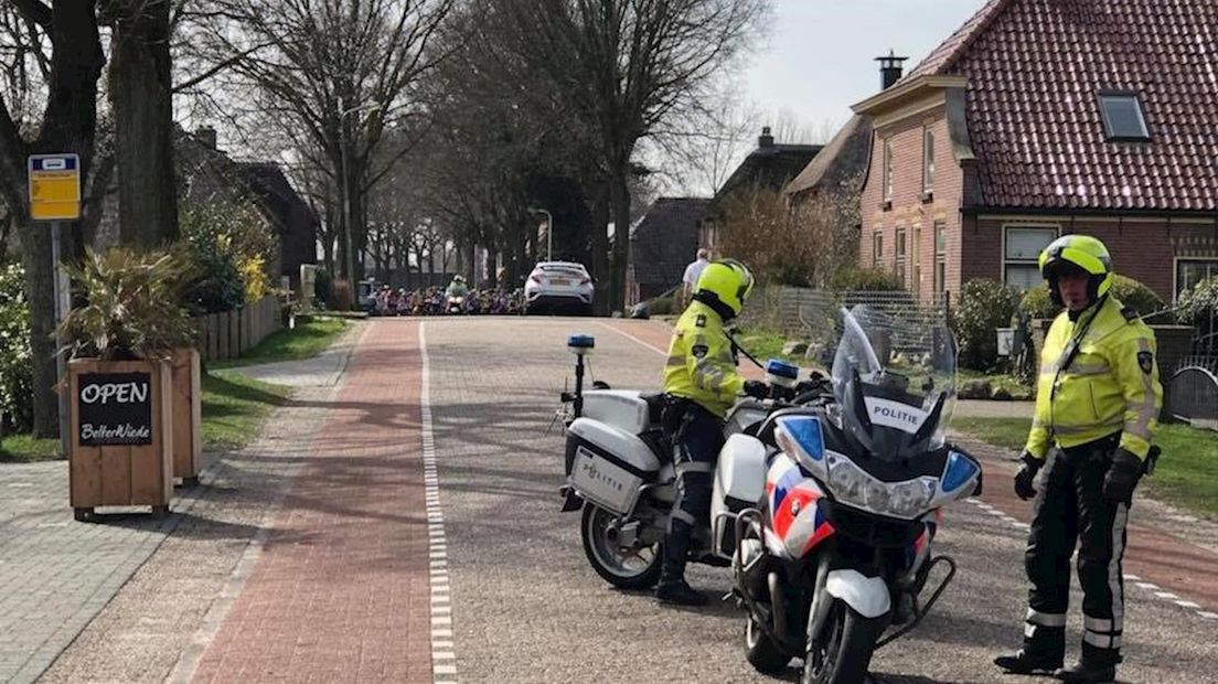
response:
{"label": "white pannier case of the front motorcycle, beside seated officer's leg", "polygon": [[730,559],[736,553],[737,514],[761,503],[765,494],[765,444],[747,434],[732,434],[719,453],[710,520],[715,553],[720,556]]}

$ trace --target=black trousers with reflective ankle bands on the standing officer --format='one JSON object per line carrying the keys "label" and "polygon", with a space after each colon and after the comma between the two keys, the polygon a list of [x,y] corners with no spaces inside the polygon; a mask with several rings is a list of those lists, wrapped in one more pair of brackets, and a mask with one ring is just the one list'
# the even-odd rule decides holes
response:
{"label": "black trousers with reflective ankle bands on the standing officer", "polygon": [[1104,498],[1104,476],[1112,464],[1116,437],[1058,450],[1037,497],[1024,556],[1028,617],[1024,650],[1061,657],[1069,604],[1069,559],[1078,545],[1078,579],[1083,587],[1083,660],[1121,661],[1125,550],[1124,503]]}

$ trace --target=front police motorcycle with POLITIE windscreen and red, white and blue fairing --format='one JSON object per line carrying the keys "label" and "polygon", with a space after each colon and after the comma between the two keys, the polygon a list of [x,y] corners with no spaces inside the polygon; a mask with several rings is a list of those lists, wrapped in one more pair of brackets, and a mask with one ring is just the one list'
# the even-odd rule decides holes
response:
{"label": "front police motorcycle with POLITIE windscreen and red, white and blue fairing", "polygon": [[832,393],[736,437],[713,499],[748,612],[748,661],[778,673],[801,657],[804,683],[864,682],[875,650],[921,622],[955,574],[931,553],[940,510],[982,481],[978,461],[944,439],[956,371],[948,327],[865,305],[842,313]]}

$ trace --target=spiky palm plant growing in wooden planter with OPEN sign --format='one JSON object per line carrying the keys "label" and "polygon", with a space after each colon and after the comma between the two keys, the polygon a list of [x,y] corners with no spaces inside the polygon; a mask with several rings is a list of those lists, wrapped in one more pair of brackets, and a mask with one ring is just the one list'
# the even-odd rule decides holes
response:
{"label": "spiky palm plant growing in wooden planter with OPEN sign", "polygon": [[73,358],[163,358],[192,342],[194,327],[181,305],[191,267],[180,253],[89,250],[82,265],[67,270],[86,302],[57,330]]}

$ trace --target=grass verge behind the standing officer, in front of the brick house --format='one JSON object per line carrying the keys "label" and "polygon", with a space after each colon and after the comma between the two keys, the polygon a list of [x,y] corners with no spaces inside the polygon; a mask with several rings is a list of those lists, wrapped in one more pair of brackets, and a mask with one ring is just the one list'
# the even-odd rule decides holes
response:
{"label": "grass verge behind the standing officer, in front of the brick house", "polygon": [[[970,419],[955,430],[1013,450],[1023,448],[1030,421],[1027,419]],[[1162,425],[1155,443],[1163,449],[1155,475],[1142,481],[1151,497],[1218,520],[1218,434],[1186,425]]]}

